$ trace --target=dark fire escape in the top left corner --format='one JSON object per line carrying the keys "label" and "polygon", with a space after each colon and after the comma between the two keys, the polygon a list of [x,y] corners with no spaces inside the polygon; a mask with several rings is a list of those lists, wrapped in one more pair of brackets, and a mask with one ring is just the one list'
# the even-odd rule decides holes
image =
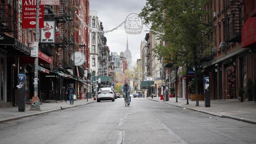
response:
{"label": "dark fire escape in the top left corner", "polygon": [[11,22],[12,1],[11,0],[1,0],[0,2],[0,32],[12,32],[13,22]]}

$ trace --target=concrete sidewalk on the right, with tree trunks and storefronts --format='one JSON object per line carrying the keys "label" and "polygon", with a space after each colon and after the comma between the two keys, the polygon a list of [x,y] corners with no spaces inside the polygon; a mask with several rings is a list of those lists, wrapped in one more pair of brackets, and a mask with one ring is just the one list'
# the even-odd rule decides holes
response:
{"label": "concrete sidewalk on the right, with tree trunks and storefronts", "polygon": [[222,118],[232,118],[235,120],[256,124],[256,103],[253,102],[241,103],[211,101],[211,107],[204,107],[204,101],[199,101],[199,107],[196,107],[196,101],[189,100],[189,105],[186,105],[187,100],[185,98],[178,98],[178,103],[176,103],[176,98],[169,98],[169,101],[167,102],[160,100],[160,97],[148,99],[219,116]]}

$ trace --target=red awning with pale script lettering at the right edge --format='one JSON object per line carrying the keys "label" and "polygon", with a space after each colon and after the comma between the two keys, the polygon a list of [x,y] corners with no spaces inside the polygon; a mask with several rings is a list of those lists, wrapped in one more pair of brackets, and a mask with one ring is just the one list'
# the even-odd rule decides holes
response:
{"label": "red awning with pale script lettering at the right edge", "polygon": [[254,44],[256,44],[256,17],[250,17],[242,27],[242,48],[250,48]]}

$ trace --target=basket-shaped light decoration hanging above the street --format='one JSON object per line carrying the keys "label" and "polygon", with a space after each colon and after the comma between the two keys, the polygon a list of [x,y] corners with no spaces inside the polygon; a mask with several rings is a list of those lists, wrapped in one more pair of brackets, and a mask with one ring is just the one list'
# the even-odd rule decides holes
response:
{"label": "basket-shaped light decoration hanging above the street", "polygon": [[125,19],[125,31],[128,34],[140,34],[142,31],[142,20],[137,13],[130,13]]}

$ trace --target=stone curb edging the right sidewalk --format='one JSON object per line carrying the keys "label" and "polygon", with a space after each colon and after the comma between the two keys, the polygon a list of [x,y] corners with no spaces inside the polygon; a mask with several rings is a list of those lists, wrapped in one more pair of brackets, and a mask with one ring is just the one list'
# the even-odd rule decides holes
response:
{"label": "stone curb edging the right sidewalk", "polygon": [[[147,99],[152,100],[150,98],[147,98]],[[153,101],[161,102],[159,100],[153,100]],[[183,107],[183,106],[175,105],[175,104],[172,104],[172,103],[166,103],[166,102],[161,102],[161,103],[165,103],[165,104],[168,104],[168,105],[174,105],[176,107],[182,107],[182,108],[190,109],[190,110],[193,110],[193,111],[198,111],[198,112],[201,112],[201,113],[211,114],[213,116],[219,116],[221,118],[230,118],[230,119],[239,120],[239,121],[242,121],[242,122],[247,122],[247,123],[250,123],[250,124],[256,124],[256,121],[254,121],[254,120],[250,120],[250,119],[239,117],[239,116],[221,115],[221,114],[213,113],[213,112],[210,112],[210,111],[204,111],[204,110],[200,110],[200,109],[193,109],[193,108],[190,108],[190,107]]]}

